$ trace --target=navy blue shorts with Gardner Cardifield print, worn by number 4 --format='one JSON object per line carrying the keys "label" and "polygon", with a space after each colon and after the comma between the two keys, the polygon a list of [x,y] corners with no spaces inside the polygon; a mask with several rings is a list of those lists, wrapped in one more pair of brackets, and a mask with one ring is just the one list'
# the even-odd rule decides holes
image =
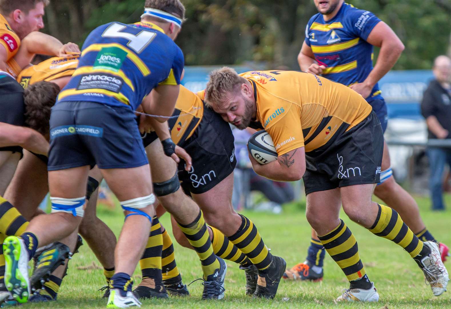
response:
{"label": "navy blue shorts with Gardner Cardifield print, worn by number 4", "polygon": [[50,116],[47,170],[96,165],[127,169],[148,164],[134,112],[94,102],[61,102]]}

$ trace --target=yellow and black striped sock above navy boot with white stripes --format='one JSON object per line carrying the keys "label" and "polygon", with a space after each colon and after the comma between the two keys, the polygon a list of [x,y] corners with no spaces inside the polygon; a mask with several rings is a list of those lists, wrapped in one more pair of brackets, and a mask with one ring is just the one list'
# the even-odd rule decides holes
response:
{"label": "yellow and black striped sock above navy boot with white stripes", "polygon": [[214,274],[221,265],[213,252],[210,234],[208,234],[207,225],[203,220],[202,211],[199,211],[199,215],[192,223],[189,225],[179,224],[179,227],[198,254],[201,261],[203,279],[207,280],[207,276]]}

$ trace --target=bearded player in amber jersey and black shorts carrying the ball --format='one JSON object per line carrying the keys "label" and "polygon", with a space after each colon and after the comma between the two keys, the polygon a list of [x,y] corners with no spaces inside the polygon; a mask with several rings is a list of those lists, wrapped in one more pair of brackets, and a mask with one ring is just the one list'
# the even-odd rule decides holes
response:
{"label": "bearded player in amber jersey and black shorts carrying the ball", "polygon": [[[210,74],[205,98],[239,129],[257,127],[272,137],[278,158],[261,165],[249,156],[256,173],[278,181],[304,179],[307,220],[350,281],[338,301],[379,299],[357,241],[339,218],[341,205],[351,220],[404,248],[434,295],[446,290],[448,272],[438,244],[421,241],[395,210],[371,201],[380,180],[383,133],[360,94],[304,72],[253,71],[240,76],[224,67]],[[282,108],[284,112],[274,112]]]}

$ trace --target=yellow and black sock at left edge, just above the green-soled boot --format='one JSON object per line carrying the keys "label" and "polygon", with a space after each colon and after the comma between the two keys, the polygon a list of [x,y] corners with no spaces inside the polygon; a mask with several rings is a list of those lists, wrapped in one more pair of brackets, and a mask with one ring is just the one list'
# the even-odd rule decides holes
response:
{"label": "yellow and black sock at left edge, just above the green-soled boot", "polygon": [[0,196],[0,233],[18,236],[25,232],[28,221],[9,201]]}

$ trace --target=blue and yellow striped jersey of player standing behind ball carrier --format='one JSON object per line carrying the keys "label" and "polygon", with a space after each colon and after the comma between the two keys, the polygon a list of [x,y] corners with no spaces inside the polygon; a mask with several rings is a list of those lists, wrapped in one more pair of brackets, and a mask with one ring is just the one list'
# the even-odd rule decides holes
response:
{"label": "blue and yellow striped jersey of player standing behind ball carrier", "polygon": [[[336,16],[327,22],[318,13],[308,21],[305,43],[312,48],[322,75],[347,86],[363,82],[373,69],[373,45],[366,42],[369,33],[381,20],[369,11],[341,5]],[[382,98],[376,84],[367,99]]]}

